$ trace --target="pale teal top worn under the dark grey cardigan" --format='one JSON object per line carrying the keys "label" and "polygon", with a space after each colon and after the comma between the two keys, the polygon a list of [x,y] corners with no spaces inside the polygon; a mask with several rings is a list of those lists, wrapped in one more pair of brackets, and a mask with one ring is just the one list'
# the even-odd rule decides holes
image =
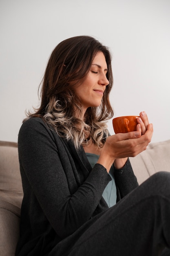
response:
{"label": "pale teal top worn under the dark grey cardigan", "polygon": [[[91,164],[91,166],[93,168],[94,165],[97,163],[97,160],[99,159],[99,155],[86,153],[86,156],[88,158],[89,163]],[[107,184],[102,196],[103,196],[104,200],[106,201],[106,203],[108,204],[108,207],[110,208],[116,204],[116,199],[117,199],[113,166],[110,168],[109,175],[112,180]]]}

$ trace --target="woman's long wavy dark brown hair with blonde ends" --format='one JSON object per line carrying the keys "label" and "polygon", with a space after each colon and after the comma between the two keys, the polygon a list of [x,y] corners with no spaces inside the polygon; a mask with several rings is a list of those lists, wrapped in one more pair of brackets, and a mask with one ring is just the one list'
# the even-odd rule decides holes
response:
{"label": "woman's long wavy dark brown hair with blonde ends", "polygon": [[[77,117],[77,113],[79,117],[82,114],[82,104],[74,88],[86,79],[97,52],[102,52],[106,58],[109,84],[101,105],[89,107],[82,120]],[[91,36],[75,36],[62,41],[49,57],[41,85],[40,107],[34,108],[34,113],[27,112],[26,119],[41,117],[58,135],[71,139],[76,148],[87,145],[89,141],[102,147],[108,136],[106,121],[113,117],[109,101],[113,74],[108,48]]]}

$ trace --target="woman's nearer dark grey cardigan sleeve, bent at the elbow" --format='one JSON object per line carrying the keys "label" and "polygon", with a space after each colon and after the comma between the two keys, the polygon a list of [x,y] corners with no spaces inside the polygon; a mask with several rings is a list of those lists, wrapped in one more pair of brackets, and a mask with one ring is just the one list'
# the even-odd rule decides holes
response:
{"label": "woman's nearer dark grey cardigan sleeve, bent at the elbow", "polygon": [[[55,140],[53,132],[40,118],[31,118],[20,128],[18,152],[24,190],[22,208],[30,214],[32,228],[38,218],[46,218],[57,235],[64,238],[91,218],[110,176],[104,166],[96,164],[72,194],[69,177],[61,162],[66,153]],[[69,162],[67,166],[71,168]],[[75,180],[72,182],[76,183]]]}

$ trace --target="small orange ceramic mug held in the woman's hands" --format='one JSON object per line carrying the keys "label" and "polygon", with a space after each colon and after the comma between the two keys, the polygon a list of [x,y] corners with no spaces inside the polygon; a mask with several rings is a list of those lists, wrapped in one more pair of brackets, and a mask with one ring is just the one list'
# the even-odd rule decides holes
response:
{"label": "small orange ceramic mug held in the woman's hands", "polygon": [[113,119],[115,133],[136,131],[137,118],[139,116],[116,117]]}

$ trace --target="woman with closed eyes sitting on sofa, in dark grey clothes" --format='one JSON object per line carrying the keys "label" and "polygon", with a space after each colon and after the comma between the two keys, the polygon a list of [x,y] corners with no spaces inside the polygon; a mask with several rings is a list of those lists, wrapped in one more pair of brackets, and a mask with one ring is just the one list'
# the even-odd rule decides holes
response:
{"label": "woman with closed eyes sitting on sofa, in dark grey clothes", "polygon": [[94,38],[69,38],[53,50],[40,108],[18,137],[24,198],[16,255],[150,256],[170,247],[170,174],[138,186],[128,157],[146,149],[152,124],[141,112],[136,132],[109,136],[112,85],[110,52]]}

